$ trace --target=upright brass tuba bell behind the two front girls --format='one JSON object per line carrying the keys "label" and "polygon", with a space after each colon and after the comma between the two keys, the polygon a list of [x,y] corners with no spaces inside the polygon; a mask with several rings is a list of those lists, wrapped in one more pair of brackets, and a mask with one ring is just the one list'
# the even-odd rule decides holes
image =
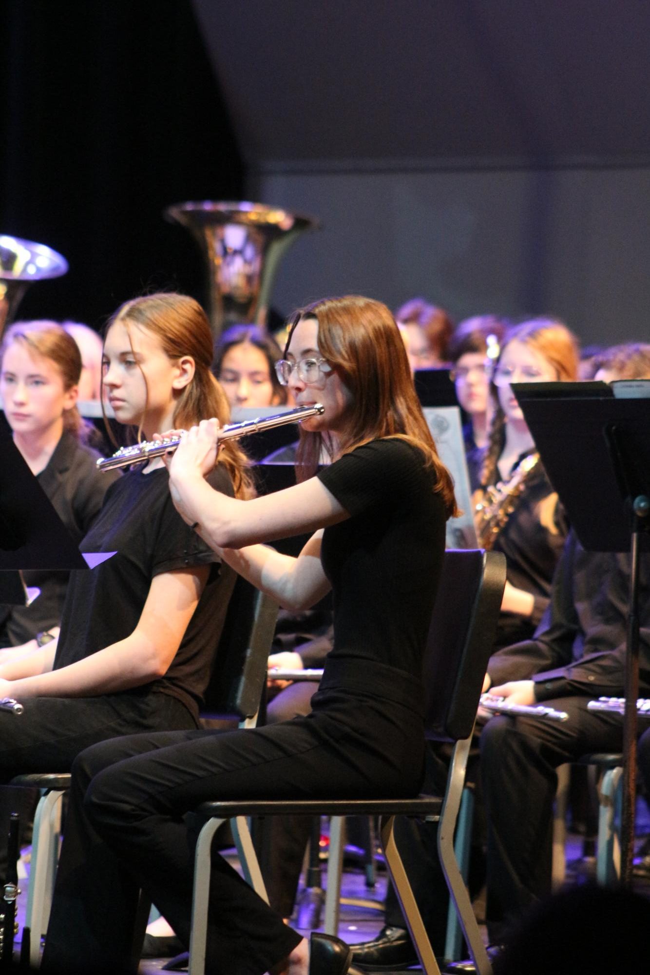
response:
{"label": "upright brass tuba bell behind the two front girls", "polygon": [[261,203],[177,203],[168,219],[186,227],[208,263],[209,315],[214,338],[237,322],[266,324],[280,261],[305,230],[321,224]]}

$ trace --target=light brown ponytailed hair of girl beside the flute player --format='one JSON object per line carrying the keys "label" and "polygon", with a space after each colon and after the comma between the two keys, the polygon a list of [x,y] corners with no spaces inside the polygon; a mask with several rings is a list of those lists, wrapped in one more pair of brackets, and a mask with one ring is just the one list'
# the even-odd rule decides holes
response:
{"label": "light brown ponytailed hair of girl beside the flute player", "polygon": [[[225,393],[210,372],[210,323],[198,301],[186,294],[146,294],[125,301],[110,319],[105,331],[116,322],[121,322],[128,332],[129,325],[133,324],[156,335],[163,351],[172,360],[182,356],[191,356],[194,360],[192,381],[180,392],[173,411],[174,427],[190,427],[211,416],[215,416],[221,425],[229,421],[230,408]],[[129,338],[131,341],[130,332]],[[146,384],[143,371],[142,375]],[[103,408],[103,395],[101,402]],[[218,459],[230,474],[235,495],[249,497],[253,490],[244,451],[234,440],[226,440],[219,448]]]}

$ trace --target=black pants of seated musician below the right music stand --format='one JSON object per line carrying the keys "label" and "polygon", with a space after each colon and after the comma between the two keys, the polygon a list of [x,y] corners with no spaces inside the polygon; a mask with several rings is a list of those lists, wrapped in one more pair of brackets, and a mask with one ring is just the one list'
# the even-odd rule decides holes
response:
{"label": "black pants of seated musician below the right music stand", "polygon": [[551,892],[555,769],[589,752],[620,752],[620,715],[587,710],[588,697],[544,703],[569,715],[493,718],[480,736],[487,814],[487,927],[499,942],[510,919]]}

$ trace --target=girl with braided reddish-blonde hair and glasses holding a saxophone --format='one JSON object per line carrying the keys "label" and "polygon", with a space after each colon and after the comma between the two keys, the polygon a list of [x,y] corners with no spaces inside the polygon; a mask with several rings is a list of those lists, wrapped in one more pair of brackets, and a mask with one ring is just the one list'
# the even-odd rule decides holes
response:
{"label": "girl with braided reddish-blonde hair and glasses holding a saxophone", "polygon": [[508,562],[495,648],[532,636],[549,603],[568,530],[512,384],[575,380],[578,361],[566,326],[533,319],[506,332],[491,373],[494,415],[476,500],[479,543],[503,552]]}

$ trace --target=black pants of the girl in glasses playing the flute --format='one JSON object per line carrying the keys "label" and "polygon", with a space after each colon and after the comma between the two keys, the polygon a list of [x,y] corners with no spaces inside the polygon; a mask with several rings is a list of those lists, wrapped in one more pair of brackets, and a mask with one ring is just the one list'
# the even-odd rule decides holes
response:
{"label": "black pants of the girl in glasses playing the flute", "polygon": [[[203,800],[417,793],[424,738],[412,708],[335,689],[313,704],[283,724],[137,735],[81,755],[44,970],[124,971],[138,886],[188,943],[194,841],[184,816]],[[207,967],[261,975],[300,936],[225,860],[213,853],[212,864]]]}

